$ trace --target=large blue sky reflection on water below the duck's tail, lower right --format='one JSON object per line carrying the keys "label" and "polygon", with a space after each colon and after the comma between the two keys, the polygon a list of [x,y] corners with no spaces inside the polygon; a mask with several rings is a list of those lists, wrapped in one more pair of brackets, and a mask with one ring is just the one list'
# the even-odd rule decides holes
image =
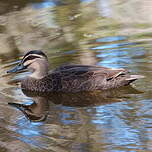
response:
{"label": "large blue sky reflection on water below the duck's tail, lower right", "polygon": [[[102,140],[111,143],[111,148],[113,146],[127,146],[127,148],[143,150],[144,148],[138,147],[143,142],[141,140],[150,140],[147,137],[143,139],[145,136],[144,124],[138,126],[142,118],[136,117],[136,120],[130,123],[128,117],[132,114],[134,114],[133,117],[137,116],[137,113],[130,113],[132,110],[134,107],[129,106],[126,102],[96,107],[96,114],[94,114],[92,123],[96,125],[98,130],[102,130]],[[114,147],[111,149],[112,151],[115,151]]]}

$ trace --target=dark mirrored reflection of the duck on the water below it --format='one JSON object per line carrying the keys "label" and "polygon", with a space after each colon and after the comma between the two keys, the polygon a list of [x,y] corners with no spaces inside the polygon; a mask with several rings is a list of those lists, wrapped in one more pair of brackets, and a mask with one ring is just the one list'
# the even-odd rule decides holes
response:
{"label": "dark mirrored reflection of the duck on the water below it", "polygon": [[32,122],[45,121],[51,104],[69,107],[88,107],[111,104],[114,102],[126,101],[131,94],[142,93],[131,86],[122,87],[115,90],[80,92],[80,93],[49,93],[29,92],[23,93],[32,99],[32,104],[9,103],[19,109],[25,117]]}

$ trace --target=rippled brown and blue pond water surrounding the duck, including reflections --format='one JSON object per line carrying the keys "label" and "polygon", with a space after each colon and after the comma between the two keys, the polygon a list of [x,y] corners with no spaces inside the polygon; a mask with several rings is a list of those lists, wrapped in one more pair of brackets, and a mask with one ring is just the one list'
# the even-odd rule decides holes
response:
{"label": "rippled brown and blue pond water surrounding the duck, including reflections", "polygon": [[[2,152],[152,151],[150,1],[0,2],[0,148]],[[31,49],[65,63],[126,68],[144,75],[106,92],[22,92],[6,74]],[[9,104],[8,104],[9,103]]]}

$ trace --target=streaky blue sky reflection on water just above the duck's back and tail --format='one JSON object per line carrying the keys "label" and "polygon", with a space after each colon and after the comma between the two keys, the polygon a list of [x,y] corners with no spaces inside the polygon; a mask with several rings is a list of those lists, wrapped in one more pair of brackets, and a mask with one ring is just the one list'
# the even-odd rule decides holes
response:
{"label": "streaky blue sky reflection on water just above the duck's back and tail", "polygon": [[[144,48],[137,46],[137,43],[120,43],[120,40],[124,41],[126,39],[124,36],[98,38],[96,42],[102,42],[103,44],[91,48],[97,50],[96,57],[101,58],[101,61],[97,64],[111,68],[121,68],[128,67],[129,64],[135,66],[137,62],[145,62],[145,59],[142,59],[145,55]],[[137,69],[134,67],[134,70]]]}

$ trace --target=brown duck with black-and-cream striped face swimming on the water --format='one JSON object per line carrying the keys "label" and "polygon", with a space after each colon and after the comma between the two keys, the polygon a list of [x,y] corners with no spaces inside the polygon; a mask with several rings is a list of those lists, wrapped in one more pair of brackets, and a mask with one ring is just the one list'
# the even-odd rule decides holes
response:
{"label": "brown duck with black-and-cream striped face swimming on the water", "polygon": [[34,92],[81,92],[116,89],[144,78],[130,75],[126,69],[97,65],[68,64],[49,71],[47,55],[41,50],[28,51],[21,61],[7,73],[30,71],[21,88]]}

